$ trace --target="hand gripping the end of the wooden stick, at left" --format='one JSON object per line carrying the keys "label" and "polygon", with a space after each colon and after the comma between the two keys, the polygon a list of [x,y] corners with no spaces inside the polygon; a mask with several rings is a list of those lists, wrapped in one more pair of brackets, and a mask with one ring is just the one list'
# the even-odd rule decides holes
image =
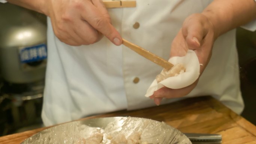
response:
{"label": "hand gripping the end of the wooden stick, at left", "polygon": [[45,7],[55,35],[68,45],[89,45],[103,35],[115,45],[122,44],[101,0],[45,0]]}

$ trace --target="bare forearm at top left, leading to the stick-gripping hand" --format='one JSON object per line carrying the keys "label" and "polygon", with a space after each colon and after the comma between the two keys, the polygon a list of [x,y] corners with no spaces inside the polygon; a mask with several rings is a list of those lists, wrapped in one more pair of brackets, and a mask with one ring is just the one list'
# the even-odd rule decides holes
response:
{"label": "bare forearm at top left, leading to the stick-gripping hand", "polygon": [[7,0],[9,3],[45,14],[45,0]]}

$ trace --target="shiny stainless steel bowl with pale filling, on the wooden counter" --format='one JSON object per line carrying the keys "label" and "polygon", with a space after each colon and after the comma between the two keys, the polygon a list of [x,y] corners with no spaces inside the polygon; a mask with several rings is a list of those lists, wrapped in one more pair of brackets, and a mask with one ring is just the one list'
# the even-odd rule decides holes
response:
{"label": "shiny stainless steel bowl with pale filling, on the wooden counter", "polygon": [[74,121],[45,129],[21,144],[77,144],[95,132],[103,134],[102,144],[109,144],[109,136],[141,132],[141,142],[147,144],[192,144],[179,130],[151,119],[138,117],[104,117]]}

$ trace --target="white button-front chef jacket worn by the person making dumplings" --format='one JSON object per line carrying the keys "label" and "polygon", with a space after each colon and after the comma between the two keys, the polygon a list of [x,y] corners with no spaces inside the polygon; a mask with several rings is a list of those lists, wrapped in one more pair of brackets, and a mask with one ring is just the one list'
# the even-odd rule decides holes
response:
{"label": "white button-front chef jacket worn by the person making dumplings", "polygon": [[[165,59],[186,17],[200,13],[211,0],[137,0],[132,8],[108,9],[124,39]],[[138,22],[139,28],[133,28]],[[236,113],[240,92],[235,30],[220,36],[198,85],[185,96],[211,95]],[[154,106],[147,88],[162,68],[106,37],[88,46],[69,46],[54,36],[48,18],[48,64],[42,119],[46,126],[92,114]],[[138,78],[139,82],[134,83]],[[164,99],[168,103],[178,99]]]}

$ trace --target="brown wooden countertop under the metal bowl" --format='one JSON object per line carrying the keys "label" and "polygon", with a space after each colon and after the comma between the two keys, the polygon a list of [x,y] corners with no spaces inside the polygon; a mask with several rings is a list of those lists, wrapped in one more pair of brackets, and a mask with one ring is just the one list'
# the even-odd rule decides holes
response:
{"label": "brown wooden countertop under the metal bowl", "polygon": [[[134,111],[117,111],[86,117],[133,116],[164,121],[182,132],[222,135],[222,144],[256,144],[256,126],[210,96]],[[0,137],[0,144],[20,144],[46,128]]]}

